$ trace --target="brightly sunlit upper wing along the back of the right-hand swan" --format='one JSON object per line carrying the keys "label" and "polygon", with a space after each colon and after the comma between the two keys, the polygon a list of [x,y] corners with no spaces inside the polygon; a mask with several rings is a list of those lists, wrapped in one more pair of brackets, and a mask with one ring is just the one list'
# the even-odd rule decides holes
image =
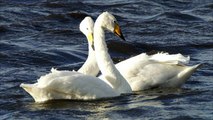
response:
{"label": "brightly sunlit upper wing along the back of the right-hand swan", "polygon": [[168,53],[157,53],[154,55],[147,55],[146,53],[141,53],[124,61],[116,64],[116,68],[119,71],[127,74],[128,72],[133,72],[137,74],[137,70],[143,69],[143,67],[150,63],[162,63],[162,64],[186,64],[190,60],[190,57],[184,57],[181,54],[168,54]]}

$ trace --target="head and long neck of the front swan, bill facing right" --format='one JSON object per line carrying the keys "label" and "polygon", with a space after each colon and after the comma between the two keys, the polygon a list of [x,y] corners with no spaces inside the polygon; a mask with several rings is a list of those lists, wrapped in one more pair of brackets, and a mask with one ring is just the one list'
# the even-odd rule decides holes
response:
{"label": "head and long neck of the front swan, bill facing right", "polygon": [[[116,28],[116,29],[115,29]],[[94,25],[94,44],[95,56],[97,64],[103,74],[103,80],[106,80],[119,93],[131,93],[131,87],[125,78],[116,69],[108,54],[108,49],[105,42],[105,30],[116,33],[122,36],[121,30],[117,24],[117,20],[113,15],[104,12],[96,19]]]}

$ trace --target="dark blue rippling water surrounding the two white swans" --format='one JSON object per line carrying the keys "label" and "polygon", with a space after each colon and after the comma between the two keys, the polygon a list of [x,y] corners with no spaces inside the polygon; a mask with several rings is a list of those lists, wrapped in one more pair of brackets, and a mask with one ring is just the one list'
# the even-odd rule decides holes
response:
{"label": "dark blue rippling water surrounding the two white swans", "polygon": [[[87,57],[86,16],[116,16],[126,42],[107,35],[115,62],[141,52],[190,55],[203,63],[180,89],[99,101],[34,103],[19,87],[52,67],[77,70]],[[212,0],[0,0],[0,119],[213,119]]]}

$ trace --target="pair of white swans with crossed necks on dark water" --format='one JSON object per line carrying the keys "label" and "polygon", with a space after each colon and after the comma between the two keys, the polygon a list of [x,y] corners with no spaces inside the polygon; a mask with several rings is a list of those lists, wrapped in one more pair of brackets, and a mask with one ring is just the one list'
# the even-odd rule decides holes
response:
{"label": "pair of white swans with crossed necks on dark water", "polygon": [[[87,36],[89,54],[77,72],[52,69],[51,73],[41,76],[37,83],[20,85],[36,102],[53,99],[91,100],[152,87],[178,87],[199,66],[179,64],[189,61],[189,58],[180,54],[161,53],[153,56],[140,54],[115,66],[107,52],[104,31],[109,30],[121,38],[123,35],[117,20],[108,12],[99,15],[95,24],[90,17],[86,17],[80,24],[80,30]],[[95,76],[99,69],[102,76],[97,78]]]}

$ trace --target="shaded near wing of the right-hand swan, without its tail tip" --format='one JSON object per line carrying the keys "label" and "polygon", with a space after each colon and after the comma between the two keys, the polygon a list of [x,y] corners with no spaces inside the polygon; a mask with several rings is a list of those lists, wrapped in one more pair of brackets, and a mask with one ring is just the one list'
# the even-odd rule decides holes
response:
{"label": "shaded near wing of the right-hand swan, without its tail tip", "polygon": [[[127,80],[131,84],[133,91],[145,90],[154,87],[168,87],[172,83],[175,86],[177,76],[185,69],[184,66],[150,63],[138,69],[137,74],[131,74]],[[175,79],[175,80],[173,80]]]}

